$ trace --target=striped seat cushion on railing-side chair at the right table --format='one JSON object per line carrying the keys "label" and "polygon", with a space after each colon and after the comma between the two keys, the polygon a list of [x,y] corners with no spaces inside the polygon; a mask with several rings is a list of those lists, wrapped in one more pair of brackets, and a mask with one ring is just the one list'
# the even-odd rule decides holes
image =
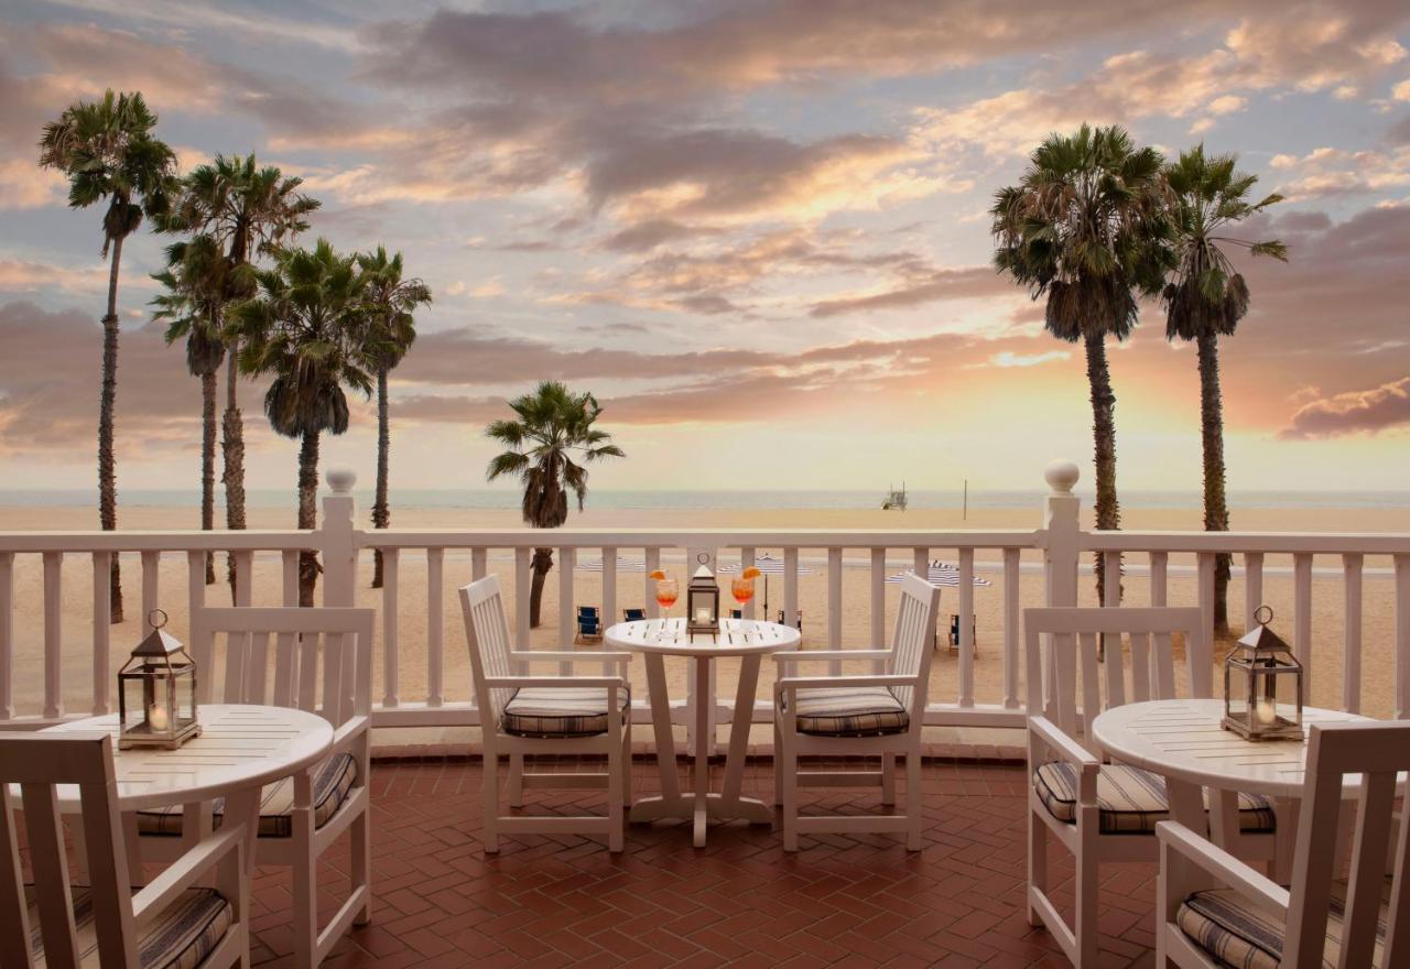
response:
{"label": "striped seat cushion on railing-side chair at the right table", "polygon": [[[1072,763],[1045,763],[1034,772],[1038,799],[1059,821],[1077,820],[1077,777]],[[1159,821],[1170,820],[1165,777],[1141,768],[1104,763],[1097,775],[1098,830],[1103,834],[1151,834]],[[1262,794],[1238,796],[1241,831],[1273,830],[1273,801]]]}

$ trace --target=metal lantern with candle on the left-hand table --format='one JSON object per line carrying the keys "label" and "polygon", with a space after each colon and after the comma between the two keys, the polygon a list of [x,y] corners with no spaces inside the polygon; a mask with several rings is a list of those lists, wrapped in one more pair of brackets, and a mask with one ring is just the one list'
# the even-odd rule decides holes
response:
{"label": "metal lantern with candle on the left-hand table", "polygon": [[152,610],[152,631],[117,673],[117,746],[175,751],[200,737],[196,723],[196,663],[168,634],[166,613]]}

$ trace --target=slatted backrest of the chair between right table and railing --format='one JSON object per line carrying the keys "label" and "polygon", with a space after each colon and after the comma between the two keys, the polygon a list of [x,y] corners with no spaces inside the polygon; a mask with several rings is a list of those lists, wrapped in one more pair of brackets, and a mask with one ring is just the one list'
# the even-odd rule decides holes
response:
{"label": "slatted backrest of the chair between right table and railing", "polygon": [[[1025,608],[1028,713],[1090,746],[1091,721],[1103,710],[1176,696],[1176,632],[1184,635],[1190,696],[1210,696],[1213,659],[1198,608]],[[1131,641],[1129,682],[1122,635]]]}

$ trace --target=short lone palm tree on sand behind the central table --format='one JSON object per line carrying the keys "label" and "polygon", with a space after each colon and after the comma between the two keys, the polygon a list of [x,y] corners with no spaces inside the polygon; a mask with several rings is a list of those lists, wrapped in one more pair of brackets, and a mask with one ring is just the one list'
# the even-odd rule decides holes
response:
{"label": "short lone palm tree on sand behind the central table", "polygon": [[[625,458],[606,431],[592,424],[602,414],[596,397],[575,394],[561,383],[546,380],[530,393],[509,401],[517,420],[495,421],[485,437],[509,449],[489,462],[485,477],[515,475],[523,482],[523,520],[530,528],[558,528],[568,520],[568,492],[578,499],[578,511],[588,497],[589,465],[602,458]],[[582,463],[577,463],[580,456]],[[539,625],[543,582],[553,568],[553,549],[533,552],[533,584],[529,625]]]}

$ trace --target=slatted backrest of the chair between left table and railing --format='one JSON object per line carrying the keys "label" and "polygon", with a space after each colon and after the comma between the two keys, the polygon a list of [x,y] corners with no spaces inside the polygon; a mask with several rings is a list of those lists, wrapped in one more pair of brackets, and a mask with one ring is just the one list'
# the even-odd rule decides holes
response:
{"label": "slatted backrest of the chair between left table and railing", "polygon": [[371,608],[202,608],[192,620],[200,699],[298,707],[334,727],[368,715],[375,620]]}

